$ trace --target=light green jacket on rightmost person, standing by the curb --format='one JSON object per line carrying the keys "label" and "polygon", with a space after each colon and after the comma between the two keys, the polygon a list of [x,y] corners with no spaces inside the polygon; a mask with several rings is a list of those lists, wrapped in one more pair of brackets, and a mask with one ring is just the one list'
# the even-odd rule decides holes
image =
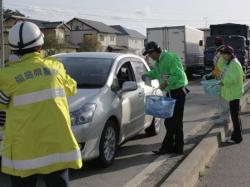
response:
{"label": "light green jacket on rightmost person, standing by the curb", "polygon": [[244,72],[240,62],[237,59],[233,59],[229,64],[224,64],[224,68],[221,96],[227,101],[240,99],[244,93]]}

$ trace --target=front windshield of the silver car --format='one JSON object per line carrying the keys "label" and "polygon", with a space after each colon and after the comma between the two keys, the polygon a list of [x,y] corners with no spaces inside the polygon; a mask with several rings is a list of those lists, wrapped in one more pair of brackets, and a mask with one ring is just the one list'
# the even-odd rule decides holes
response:
{"label": "front windshield of the silver car", "polygon": [[113,59],[86,57],[57,57],[67,73],[76,80],[78,88],[99,88],[107,81]]}

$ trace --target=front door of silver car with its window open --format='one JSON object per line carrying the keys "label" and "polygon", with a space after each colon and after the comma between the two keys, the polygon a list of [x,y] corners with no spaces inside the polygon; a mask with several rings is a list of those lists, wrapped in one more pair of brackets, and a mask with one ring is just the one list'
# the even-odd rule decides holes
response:
{"label": "front door of silver car with its window open", "polygon": [[[120,90],[126,81],[136,81],[131,61],[125,58],[120,61],[117,69],[117,80]],[[144,89],[138,86],[136,90],[122,92],[122,128],[126,137],[138,132],[138,124],[144,123]]]}

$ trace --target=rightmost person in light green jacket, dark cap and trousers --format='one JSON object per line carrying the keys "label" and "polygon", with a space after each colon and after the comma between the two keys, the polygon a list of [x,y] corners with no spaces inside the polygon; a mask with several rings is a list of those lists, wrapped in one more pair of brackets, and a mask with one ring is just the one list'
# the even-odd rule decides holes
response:
{"label": "rightmost person in light green jacket, dark cap and trousers", "polygon": [[221,96],[229,101],[230,114],[233,122],[233,133],[229,143],[240,143],[242,141],[240,112],[240,98],[244,93],[244,72],[238,59],[234,55],[231,46],[220,49],[225,60],[221,78]]}

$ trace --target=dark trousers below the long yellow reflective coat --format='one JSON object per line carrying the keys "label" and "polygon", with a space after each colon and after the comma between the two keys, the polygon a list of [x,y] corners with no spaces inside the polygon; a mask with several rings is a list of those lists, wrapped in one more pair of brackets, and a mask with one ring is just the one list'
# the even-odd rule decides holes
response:
{"label": "dark trousers below the long yellow reflective coat", "polygon": [[43,176],[46,187],[68,187],[68,169],[56,171],[46,175],[32,175],[29,177],[11,176],[12,187],[36,187],[38,176]]}

